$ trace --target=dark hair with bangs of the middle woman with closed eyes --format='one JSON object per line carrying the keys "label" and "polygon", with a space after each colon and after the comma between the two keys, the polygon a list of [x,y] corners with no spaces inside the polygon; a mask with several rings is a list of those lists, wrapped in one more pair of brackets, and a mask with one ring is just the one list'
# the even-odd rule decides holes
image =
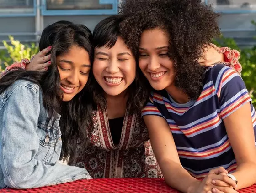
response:
{"label": "dark hair with bangs of the middle woman with closed eyes", "polygon": [[[116,44],[118,37],[123,38],[119,31],[119,24],[123,20],[124,18],[122,15],[112,15],[104,20],[101,20],[93,31],[94,47],[107,46],[108,48],[112,48]],[[135,57],[135,49],[131,49],[131,51]],[[140,81],[140,79],[143,77],[144,75],[139,70],[138,59],[136,59],[136,77],[133,83],[128,87],[127,92],[129,95],[127,107],[130,108],[130,113],[140,112],[149,96],[148,91],[144,89],[145,86],[143,85],[143,82],[145,81]],[[101,107],[106,107],[107,103],[104,97],[104,90],[94,77],[92,77],[91,88],[94,102]]]}

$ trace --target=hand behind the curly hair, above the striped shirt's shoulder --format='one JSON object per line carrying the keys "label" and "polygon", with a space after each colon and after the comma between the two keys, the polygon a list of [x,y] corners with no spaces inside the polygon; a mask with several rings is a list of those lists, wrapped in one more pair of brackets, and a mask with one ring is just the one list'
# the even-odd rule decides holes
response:
{"label": "hand behind the curly hair, above the striped shirt's shoulder", "polygon": [[224,55],[217,51],[213,46],[203,46],[203,55],[199,58],[198,63],[203,66],[213,66],[215,63],[224,62]]}

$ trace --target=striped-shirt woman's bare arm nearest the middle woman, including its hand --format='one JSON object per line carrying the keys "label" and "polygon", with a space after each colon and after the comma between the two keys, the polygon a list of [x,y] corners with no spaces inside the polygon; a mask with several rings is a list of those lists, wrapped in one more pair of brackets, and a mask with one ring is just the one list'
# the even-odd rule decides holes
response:
{"label": "striped-shirt woman's bare arm nearest the middle woman, including its hand", "polygon": [[165,182],[172,188],[184,193],[208,193],[213,188],[217,188],[227,193],[237,193],[228,186],[217,187],[212,184],[213,179],[226,182],[227,184],[235,184],[233,180],[224,175],[224,168],[216,168],[209,172],[208,176],[199,181],[192,177],[180,163],[176,150],[175,142],[172,137],[170,127],[163,117],[156,115],[144,116],[144,121],[148,126],[150,142],[155,153],[155,157],[160,165]]}

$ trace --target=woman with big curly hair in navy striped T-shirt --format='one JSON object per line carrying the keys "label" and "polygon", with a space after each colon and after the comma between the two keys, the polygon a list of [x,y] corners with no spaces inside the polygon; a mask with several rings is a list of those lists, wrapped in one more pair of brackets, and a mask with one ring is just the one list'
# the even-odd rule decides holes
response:
{"label": "woman with big curly hair in navy striped T-shirt", "polygon": [[256,183],[256,113],[245,84],[228,66],[198,62],[220,34],[219,15],[201,0],[126,0],[120,14],[154,89],[142,115],[165,181],[187,193]]}

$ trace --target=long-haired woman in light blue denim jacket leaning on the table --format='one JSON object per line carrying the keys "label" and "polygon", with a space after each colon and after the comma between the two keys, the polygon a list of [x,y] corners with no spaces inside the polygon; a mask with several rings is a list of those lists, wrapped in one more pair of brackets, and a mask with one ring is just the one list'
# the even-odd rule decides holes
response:
{"label": "long-haired woman in light blue denim jacket leaning on the table", "polygon": [[0,80],[0,188],[91,178],[84,168],[59,163],[75,159],[78,143],[86,145],[91,39],[84,25],[49,25],[39,43],[42,53],[51,50],[49,70],[16,68]]}

